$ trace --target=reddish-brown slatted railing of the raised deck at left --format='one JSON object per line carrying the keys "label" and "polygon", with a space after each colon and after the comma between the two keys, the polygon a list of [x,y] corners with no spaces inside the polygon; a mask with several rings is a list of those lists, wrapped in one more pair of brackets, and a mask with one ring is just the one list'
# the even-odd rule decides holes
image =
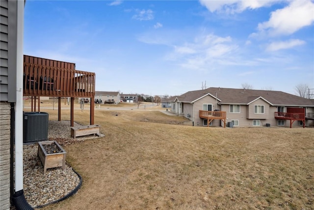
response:
{"label": "reddish-brown slatted railing of the raised deck at left", "polygon": [[24,63],[24,96],[94,97],[95,73]]}

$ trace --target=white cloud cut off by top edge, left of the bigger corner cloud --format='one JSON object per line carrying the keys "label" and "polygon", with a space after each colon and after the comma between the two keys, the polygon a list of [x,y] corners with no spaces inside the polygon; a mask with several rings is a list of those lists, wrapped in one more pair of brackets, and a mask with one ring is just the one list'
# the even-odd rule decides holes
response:
{"label": "white cloud cut off by top edge, left of the bigger corner cloud", "polygon": [[276,3],[274,0],[200,0],[210,12],[239,13]]}

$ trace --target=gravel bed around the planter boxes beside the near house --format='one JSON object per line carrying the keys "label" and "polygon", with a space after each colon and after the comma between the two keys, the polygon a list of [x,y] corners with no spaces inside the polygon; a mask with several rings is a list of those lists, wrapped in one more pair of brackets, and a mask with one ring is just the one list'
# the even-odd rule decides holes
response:
{"label": "gravel bed around the planter boxes beside the near house", "polygon": [[[80,124],[74,123],[74,126]],[[101,134],[100,136],[104,136]],[[49,121],[48,141],[57,141],[61,147],[82,142],[85,139],[98,138],[98,136],[88,135],[71,137],[70,121]],[[47,169],[44,175],[44,167],[39,157],[37,157],[38,143],[23,146],[23,183],[26,201],[33,208],[47,205],[57,201],[71,193],[80,183],[78,175],[72,167],[66,163],[65,169],[56,167]],[[14,210],[14,207],[11,208]]]}

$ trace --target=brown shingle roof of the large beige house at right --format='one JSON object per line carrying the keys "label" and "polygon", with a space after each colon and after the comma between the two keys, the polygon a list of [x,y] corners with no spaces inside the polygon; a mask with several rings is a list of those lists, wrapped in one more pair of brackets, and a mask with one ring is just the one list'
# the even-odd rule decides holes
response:
{"label": "brown shingle roof of the large beige house at right", "polygon": [[208,88],[205,90],[188,91],[177,98],[181,102],[194,102],[205,95],[213,97],[217,95],[220,104],[249,104],[258,98],[262,98],[274,106],[314,106],[313,100],[273,90]]}

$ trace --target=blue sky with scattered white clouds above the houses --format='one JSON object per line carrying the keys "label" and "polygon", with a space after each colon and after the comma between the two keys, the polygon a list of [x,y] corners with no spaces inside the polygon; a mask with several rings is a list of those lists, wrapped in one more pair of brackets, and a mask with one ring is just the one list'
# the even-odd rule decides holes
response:
{"label": "blue sky with scattered white clouds above the houses", "polygon": [[314,89],[312,0],[27,0],[24,54],[96,73],[97,91]]}

